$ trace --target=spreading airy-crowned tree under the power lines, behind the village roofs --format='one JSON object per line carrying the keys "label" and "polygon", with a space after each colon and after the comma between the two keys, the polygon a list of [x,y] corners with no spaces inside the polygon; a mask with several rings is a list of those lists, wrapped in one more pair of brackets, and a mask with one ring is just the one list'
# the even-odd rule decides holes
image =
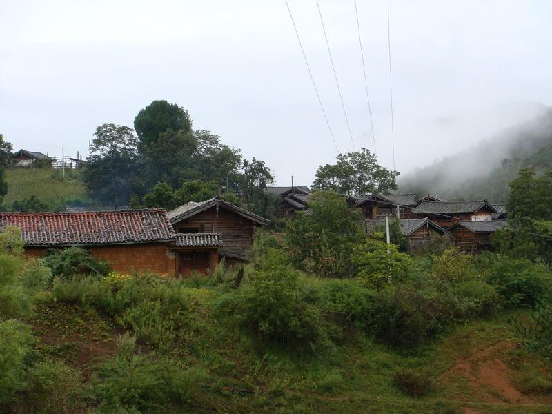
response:
{"label": "spreading airy-crowned tree under the power lines, behind the village roofs", "polygon": [[313,186],[342,195],[389,194],[397,190],[398,175],[377,164],[377,156],[361,148],[337,155],[336,164],[319,166]]}

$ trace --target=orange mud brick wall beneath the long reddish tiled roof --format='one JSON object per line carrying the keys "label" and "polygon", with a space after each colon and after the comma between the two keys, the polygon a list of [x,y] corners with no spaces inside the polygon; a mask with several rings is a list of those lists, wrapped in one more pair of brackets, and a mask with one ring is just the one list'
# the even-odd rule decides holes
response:
{"label": "orange mud brick wall beneath the long reddish tiled roof", "polygon": [[[151,271],[158,275],[175,276],[176,255],[168,250],[166,243],[112,244],[109,246],[88,246],[87,250],[98,260],[105,260],[111,270],[120,273]],[[43,255],[45,248],[26,248],[25,253],[33,257]]]}

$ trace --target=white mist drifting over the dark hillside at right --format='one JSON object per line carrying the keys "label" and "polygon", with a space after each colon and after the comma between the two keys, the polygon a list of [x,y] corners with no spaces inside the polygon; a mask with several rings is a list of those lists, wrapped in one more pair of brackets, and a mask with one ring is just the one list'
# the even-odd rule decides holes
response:
{"label": "white mist drifting over the dark hillside at right", "polygon": [[552,169],[552,109],[399,179],[402,193],[503,203],[520,168]]}

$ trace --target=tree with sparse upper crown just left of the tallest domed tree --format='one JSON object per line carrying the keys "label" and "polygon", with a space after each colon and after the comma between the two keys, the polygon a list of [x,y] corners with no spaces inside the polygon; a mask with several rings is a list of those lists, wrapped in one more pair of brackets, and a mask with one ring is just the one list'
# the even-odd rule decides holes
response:
{"label": "tree with sparse upper crown just left of the tallest domed tree", "polygon": [[142,187],[134,131],[128,126],[103,124],[94,136],[92,155],[82,172],[88,195],[106,204],[126,204],[129,195]]}

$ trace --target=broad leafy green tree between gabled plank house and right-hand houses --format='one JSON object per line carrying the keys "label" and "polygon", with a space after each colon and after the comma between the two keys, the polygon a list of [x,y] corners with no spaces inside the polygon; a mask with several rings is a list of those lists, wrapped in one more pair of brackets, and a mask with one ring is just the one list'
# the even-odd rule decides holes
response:
{"label": "broad leafy green tree between gabled plank house and right-hand houses", "polygon": [[320,277],[353,275],[351,254],[367,237],[359,210],[348,208],[341,195],[319,191],[309,196],[308,212],[288,222],[285,234],[295,265]]}

